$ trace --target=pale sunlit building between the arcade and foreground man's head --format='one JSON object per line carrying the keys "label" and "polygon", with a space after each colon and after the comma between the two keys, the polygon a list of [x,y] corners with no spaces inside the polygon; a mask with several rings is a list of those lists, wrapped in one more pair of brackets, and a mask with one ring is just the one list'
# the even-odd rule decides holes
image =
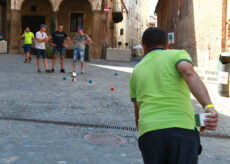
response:
{"label": "pale sunlit building between the arcade and foreground man's head", "polygon": [[[151,7],[154,6],[153,2],[153,0],[124,0],[128,12],[123,9],[124,20],[116,24],[115,33],[117,42],[122,42],[122,48],[125,48],[125,43],[128,43],[130,48],[141,44],[144,30],[150,23],[156,24],[156,21],[150,22],[151,16],[154,17],[154,7]],[[117,5],[118,8],[121,8],[120,6]]]}

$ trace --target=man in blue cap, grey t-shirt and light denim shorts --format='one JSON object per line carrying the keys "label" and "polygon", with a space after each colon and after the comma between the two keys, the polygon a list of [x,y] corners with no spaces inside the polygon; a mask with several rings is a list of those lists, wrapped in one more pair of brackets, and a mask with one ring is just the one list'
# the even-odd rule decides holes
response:
{"label": "man in blue cap, grey t-shirt and light denim shorts", "polygon": [[85,55],[85,47],[87,44],[92,44],[92,40],[88,35],[84,34],[83,27],[78,27],[78,33],[75,38],[76,42],[76,48],[74,50],[74,56],[73,56],[73,75],[76,74],[76,66],[77,66],[77,59],[80,57],[81,61],[81,74],[85,73],[85,63],[84,63],[84,55]]}

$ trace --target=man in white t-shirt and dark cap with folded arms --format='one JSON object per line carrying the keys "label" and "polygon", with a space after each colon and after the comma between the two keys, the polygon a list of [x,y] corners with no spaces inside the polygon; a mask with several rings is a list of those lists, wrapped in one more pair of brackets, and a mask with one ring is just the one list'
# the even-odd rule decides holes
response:
{"label": "man in white t-shirt and dark cap with folded arms", "polygon": [[45,72],[51,73],[49,70],[48,62],[47,62],[47,55],[46,55],[46,42],[49,41],[49,38],[46,34],[47,26],[42,24],[40,26],[40,31],[36,33],[36,42],[35,42],[35,48],[36,48],[36,54],[37,54],[37,68],[38,73],[41,73],[41,64],[40,64],[40,58],[43,58],[44,66],[45,66]]}

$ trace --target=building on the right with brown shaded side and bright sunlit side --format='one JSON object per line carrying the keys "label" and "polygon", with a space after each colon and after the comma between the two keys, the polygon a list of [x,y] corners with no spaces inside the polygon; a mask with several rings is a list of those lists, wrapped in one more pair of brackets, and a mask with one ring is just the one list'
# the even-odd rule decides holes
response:
{"label": "building on the right with brown shaded side and bright sunlit side", "polygon": [[221,0],[159,0],[158,27],[174,32],[171,48],[187,50],[196,66],[217,63],[222,44]]}

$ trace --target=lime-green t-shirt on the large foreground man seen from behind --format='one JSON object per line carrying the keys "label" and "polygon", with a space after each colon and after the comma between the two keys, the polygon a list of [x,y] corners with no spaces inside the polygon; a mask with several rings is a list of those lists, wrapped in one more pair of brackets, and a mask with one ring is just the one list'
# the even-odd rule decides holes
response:
{"label": "lime-green t-shirt on the large foreground man seen from behind", "polygon": [[176,69],[180,61],[192,63],[184,50],[154,50],[135,67],[130,96],[139,106],[139,137],[159,129],[195,128],[190,90]]}

